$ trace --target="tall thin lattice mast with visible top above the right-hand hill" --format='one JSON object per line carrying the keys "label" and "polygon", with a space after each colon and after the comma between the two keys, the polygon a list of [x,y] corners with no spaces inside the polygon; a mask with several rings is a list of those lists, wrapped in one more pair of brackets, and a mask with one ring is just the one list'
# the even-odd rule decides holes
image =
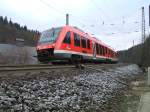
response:
{"label": "tall thin lattice mast with visible top above the right-hand hill", "polygon": [[144,7],[142,7],[142,44],[145,42],[145,12]]}

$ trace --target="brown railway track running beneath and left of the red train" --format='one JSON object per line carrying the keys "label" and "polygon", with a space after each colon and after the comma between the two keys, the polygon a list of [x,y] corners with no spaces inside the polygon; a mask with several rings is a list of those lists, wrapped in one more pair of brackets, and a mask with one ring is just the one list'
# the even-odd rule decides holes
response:
{"label": "brown railway track running beneath and left of the red train", "polygon": [[[99,68],[99,69],[109,69],[113,67],[120,66],[119,64],[82,64],[79,68]],[[49,69],[69,69],[77,68],[75,65],[49,65],[49,64],[35,64],[35,65],[0,65],[0,72],[7,71],[27,71],[27,70],[49,70]]]}

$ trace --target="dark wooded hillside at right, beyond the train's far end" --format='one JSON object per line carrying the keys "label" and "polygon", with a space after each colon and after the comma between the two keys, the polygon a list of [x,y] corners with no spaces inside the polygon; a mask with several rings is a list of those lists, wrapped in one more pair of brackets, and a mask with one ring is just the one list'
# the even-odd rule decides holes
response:
{"label": "dark wooded hillside at right, beyond the train's far end", "polygon": [[139,44],[128,50],[119,51],[118,54],[121,62],[150,66],[150,35],[144,44]]}

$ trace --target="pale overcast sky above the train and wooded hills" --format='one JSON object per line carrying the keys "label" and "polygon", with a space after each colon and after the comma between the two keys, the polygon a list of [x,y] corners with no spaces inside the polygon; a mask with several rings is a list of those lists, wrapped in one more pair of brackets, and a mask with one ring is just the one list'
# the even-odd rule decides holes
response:
{"label": "pale overcast sky above the train and wooded hills", "polygon": [[128,49],[141,42],[141,7],[145,7],[148,33],[150,0],[0,0],[0,16],[44,31],[70,25],[99,38],[115,50]]}

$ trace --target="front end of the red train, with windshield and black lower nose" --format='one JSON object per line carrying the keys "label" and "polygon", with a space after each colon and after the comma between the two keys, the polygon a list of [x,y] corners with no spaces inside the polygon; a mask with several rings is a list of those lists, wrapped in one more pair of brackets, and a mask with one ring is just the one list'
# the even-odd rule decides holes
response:
{"label": "front end of the red train, with windshield and black lower nose", "polygon": [[39,61],[54,59],[54,49],[62,27],[51,28],[43,31],[37,45],[37,57]]}

